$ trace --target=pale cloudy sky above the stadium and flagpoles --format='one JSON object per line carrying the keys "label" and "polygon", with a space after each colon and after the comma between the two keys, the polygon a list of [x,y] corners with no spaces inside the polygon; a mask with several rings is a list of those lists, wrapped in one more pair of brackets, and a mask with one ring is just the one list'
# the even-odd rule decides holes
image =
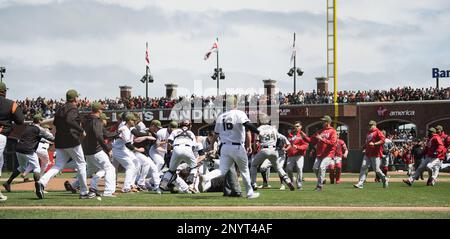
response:
{"label": "pale cloudy sky above the stadium and flagpoles", "polygon": [[[434,87],[450,70],[448,0],[338,0],[338,90]],[[326,0],[0,0],[0,66],[8,98],[116,98],[119,86],[145,96],[145,43],[155,82],[149,96],[214,95],[219,38],[221,92],[262,93],[263,80],[292,92],[326,76]],[[450,79],[441,79],[450,86]],[[333,89],[330,82],[329,89]]]}

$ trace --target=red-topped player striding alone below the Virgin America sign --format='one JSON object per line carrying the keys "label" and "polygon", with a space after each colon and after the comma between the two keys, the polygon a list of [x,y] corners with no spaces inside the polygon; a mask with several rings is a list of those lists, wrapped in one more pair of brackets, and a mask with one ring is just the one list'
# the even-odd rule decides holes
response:
{"label": "red-topped player striding alone below the Virgin America sign", "polygon": [[355,188],[362,189],[366,180],[366,171],[369,164],[372,165],[372,169],[378,175],[383,183],[383,188],[388,187],[388,178],[381,171],[381,157],[383,156],[383,145],[385,142],[384,134],[377,128],[377,122],[374,120],[369,121],[369,132],[366,136],[364,158],[359,173],[359,182],[354,184]]}

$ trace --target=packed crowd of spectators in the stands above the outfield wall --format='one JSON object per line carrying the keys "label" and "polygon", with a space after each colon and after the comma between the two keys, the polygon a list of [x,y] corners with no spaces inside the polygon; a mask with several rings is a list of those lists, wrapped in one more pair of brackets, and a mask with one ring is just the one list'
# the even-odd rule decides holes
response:
{"label": "packed crowd of spectators in the stands above the outfield wall", "polygon": [[[224,96],[220,96],[224,97]],[[180,96],[175,99],[165,97],[154,97],[145,100],[145,97],[132,97],[130,99],[103,99],[99,100],[106,110],[133,110],[133,109],[171,109],[177,103],[191,104],[191,106],[216,107],[219,101],[215,96]],[[256,105],[265,104],[266,95],[240,95],[240,104]],[[297,94],[277,94],[280,105],[302,105],[302,104],[331,104],[333,103],[333,92],[320,93],[299,91]],[[450,88],[411,88],[403,87],[390,90],[368,90],[368,91],[340,91],[338,92],[338,103],[354,104],[358,102],[395,102],[414,100],[450,100]],[[79,102],[81,110],[88,110],[91,100],[84,98]],[[222,102],[222,101],[220,101]],[[64,99],[37,99],[19,100],[26,118],[31,119],[35,112],[41,112],[44,117],[52,117],[56,108],[64,103]]]}

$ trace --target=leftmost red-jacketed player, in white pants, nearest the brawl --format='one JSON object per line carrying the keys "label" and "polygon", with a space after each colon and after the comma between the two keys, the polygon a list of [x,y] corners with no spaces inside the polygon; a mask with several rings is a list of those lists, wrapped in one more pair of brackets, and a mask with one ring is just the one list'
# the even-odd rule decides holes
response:
{"label": "leftmost red-jacketed player, in white pants, nearest the brawl", "polygon": [[288,140],[290,145],[286,148],[288,155],[286,170],[289,179],[294,182],[294,169],[296,169],[297,189],[302,190],[303,164],[310,138],[302,131],[302,123],[300,121],[294,123],[294,128],[288,135]]}

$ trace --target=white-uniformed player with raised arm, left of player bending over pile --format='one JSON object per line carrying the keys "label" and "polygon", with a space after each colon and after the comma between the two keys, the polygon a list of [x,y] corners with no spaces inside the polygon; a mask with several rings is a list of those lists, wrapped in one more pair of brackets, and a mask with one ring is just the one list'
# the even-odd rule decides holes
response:
{"label": "white-uniformed player with raised arm, left of player bending over pile", "polygon": [[156,133],[156,143],[152,145],[149,151],[150,158],[153,159],[153,161],[156,164],[156,167],[158,167],[158,170],[162,170],[165,164],[165,156],[167,153],[167,144],[168,144],[168,138],[170,134],[172,133],[172,130],[178,128],[178,123],[175,121],[172,121],[169,123],[169,126],[167,128],[162,128],[158,130]]}

